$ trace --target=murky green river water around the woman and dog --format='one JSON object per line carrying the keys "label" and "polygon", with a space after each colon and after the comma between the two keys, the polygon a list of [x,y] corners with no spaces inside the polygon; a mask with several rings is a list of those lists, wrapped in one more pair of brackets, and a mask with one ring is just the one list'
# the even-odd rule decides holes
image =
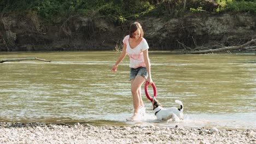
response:
{"label": "murky green river water around the woman and dog", "polygon": [[[111,73],[119,52],[0,53],[1,59],[38,57],[53,62],[0,63],[0,122],[87,122],[108,125],[154,124],[132,115],[129,59]],[[256,129],[256,56],[173,55],[150,52],[152,78],[164,107],[184,104],[184,127]],[[152,93],[152,90],[150,89]]]}

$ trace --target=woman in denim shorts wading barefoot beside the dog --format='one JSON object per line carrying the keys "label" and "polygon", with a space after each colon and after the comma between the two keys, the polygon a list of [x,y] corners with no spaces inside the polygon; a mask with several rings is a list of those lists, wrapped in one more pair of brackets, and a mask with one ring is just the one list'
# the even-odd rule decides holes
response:
{"label": "woman in denim shorts wading barefoot beside the dog", "polygon": [[141,97],[141,86],[145,80],[152,83],[150,73],[150,62],[148,57],[148,43],[143,38],[143,29],[138,22],[134,22],[130,26],[129,35],[123,40],[123,52],[118,58],[117,63],[112,67],[112,71],[117,71],[118,64],[123,61],[124,57],[130,57],[130,80],[131,93],[133,104],[133,116],[127,121],[135,121],[139,117],[140,109],[144,109],[144,104]]}

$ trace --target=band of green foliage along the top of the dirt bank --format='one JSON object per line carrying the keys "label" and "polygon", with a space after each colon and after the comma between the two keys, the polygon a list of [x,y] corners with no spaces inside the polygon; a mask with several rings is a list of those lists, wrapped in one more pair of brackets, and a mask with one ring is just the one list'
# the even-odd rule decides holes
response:
{"label": "band of green foliage along the top of the dirt bank", "polygon": [[[184,3],[186,2],[186,3]],[[144,15],[179,17],[186,13],[232,13],[256,14],[256,0],[1,0],[0,14],[33,11],[45,22],[54,23],[70,15],[108,17],[117,23],[137,19]],[[58,19],[57,19],[58,18]]]}

